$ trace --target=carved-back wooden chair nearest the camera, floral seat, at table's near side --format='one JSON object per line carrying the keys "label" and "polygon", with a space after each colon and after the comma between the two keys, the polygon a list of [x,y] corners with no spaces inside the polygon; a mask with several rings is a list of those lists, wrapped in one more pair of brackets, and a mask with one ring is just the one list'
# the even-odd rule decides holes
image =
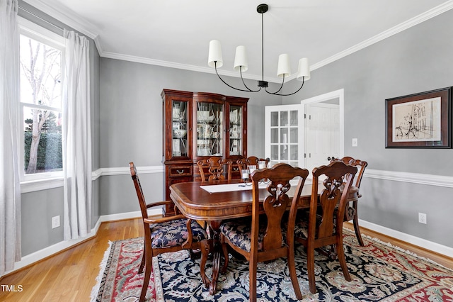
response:
{"label": "carved-back wooden chair nearest the camera, floral seat, at table's near side", "polygon": [[[251,174],[253,194],[251,218],[227,220],[220,225],[220,242],[225,257],[222,272],[226,272],[228,267],[228,247],[248,260],[250,301],[256,301],[258,262],[267,262],[280,257],[287,257],[294,293],[298,299],[302,299],[294,263],[294,224],[289,223],[287,229],[283,229],[281,225],[289,206],[294,213],[297,211],[297,202],[308,175],[308,170],[284,163],[254,171]],[[287,196],[291,188],[289,181],[296,177],[299,177],[299,181],[294,197],[290,199]],[[268,196],[261,203],[258,182],[262,179],[269,179],[270,183],[267,186]]]}

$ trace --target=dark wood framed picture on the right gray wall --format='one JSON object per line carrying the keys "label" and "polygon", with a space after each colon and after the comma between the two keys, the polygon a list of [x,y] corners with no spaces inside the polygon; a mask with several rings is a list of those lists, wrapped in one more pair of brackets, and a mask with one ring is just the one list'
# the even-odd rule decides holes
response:
{"label": "dark wood framed picture on the right gray wall", "polygon": [[452,87],[386,99],[386,148],[451,148]]}

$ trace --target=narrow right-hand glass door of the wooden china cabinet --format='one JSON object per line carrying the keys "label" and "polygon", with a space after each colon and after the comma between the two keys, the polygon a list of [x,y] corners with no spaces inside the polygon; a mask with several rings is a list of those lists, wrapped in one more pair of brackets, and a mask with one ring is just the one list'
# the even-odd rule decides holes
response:
{"label": "narrow right-hand glass door of the wooden china cabinet", "polygon": [[243,112],[242,106],[229,106],[229,155],[243,156]]}

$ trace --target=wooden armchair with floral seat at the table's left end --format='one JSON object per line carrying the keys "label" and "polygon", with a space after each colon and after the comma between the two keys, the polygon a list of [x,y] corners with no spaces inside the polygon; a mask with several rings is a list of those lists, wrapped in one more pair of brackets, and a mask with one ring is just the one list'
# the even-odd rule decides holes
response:
{"label": "wooden armchair with floral seat at the table's left end", "polygon": [[[139,301],[144,301],[147,294],[149,277],[152,271],[152,257],[164,252],[189,250],[190,257],[193,258],[193,250],[200,250],[202,254],[200,276],[203,284],[208,287],[210,280],[205,274],[205,264],[210,252],[210,245],[206,231],[195,220],[185,218],[180,213],[164,218],[148,216],[147,210],[149,208],[161,207],[172,201],[159,201],[147,204],[134,162],[130,162],[130,174],[134,181],[135,191],[137,191],[144,228],[144,252],[139,266],[139,274],[142,274],[144,269],[144,280]],[[175,209],[177,211],[176,207]]]}

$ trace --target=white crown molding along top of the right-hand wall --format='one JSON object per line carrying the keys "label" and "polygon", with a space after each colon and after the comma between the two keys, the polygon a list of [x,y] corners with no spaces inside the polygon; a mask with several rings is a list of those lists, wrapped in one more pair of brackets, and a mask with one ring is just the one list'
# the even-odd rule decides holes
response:
{"label": "white crown molding along top of the right-hand wall", "polygon": [[338,52],[336,55],[328,57],[326,60],[317,62],[316,64],[311,65],[310,70],[312,71],[321,68],[325,65],[328,65],[336,60],[340,60],[341,58],[346,57],[347,55],[351,55],[352,53],[362,50],[365,47],[368,47],[369,45],[373,45],[374,43],[378,43],[379,41],[384,40],[385,38],[389,38],[392,35],[401,33],[401,31],[403,30],[416,26],[417,24],[425,22],[430,18],[434,18],[435,16],[438,16],[441,13],[445,13],[445,11],[449,11],[450,9],[453,9],[453,0],[447,1],[444,4],[440,4],[439,6],[436,6],[435,8],[430,9],[429,11],[425,11],[424,13],[420,13],[420,15],[415,16],[409,19],[408,21],[400,23],[397,26],[394,26],[393,28],[384,30],[382,33],[379,33],[374,37],[363,41],[362,43],[349,47],[348,49],[343,50],[342,52]]}

